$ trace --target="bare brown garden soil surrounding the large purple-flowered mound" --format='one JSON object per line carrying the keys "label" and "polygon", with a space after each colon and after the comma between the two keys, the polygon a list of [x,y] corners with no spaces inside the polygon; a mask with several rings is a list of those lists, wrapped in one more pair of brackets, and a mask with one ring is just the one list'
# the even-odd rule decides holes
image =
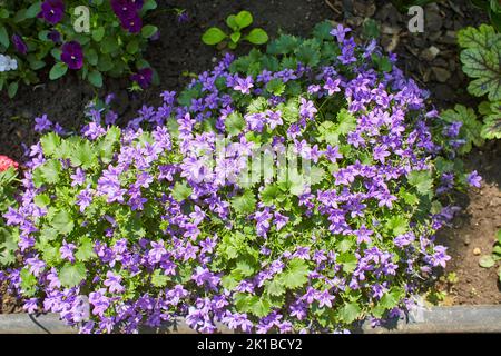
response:
{"label": "bare brown garden soil surrounding the large purple-flowered mound", "polygon": [[[200,72],[212,66],[219,52],[202,43],[204,30],[223,20],[222,14],[235,13],[242,9],[255,16],[256,24],[265,28],[273,37],[278,29],[294,34],[306,34],[322,20],[335,20],[352,28],[361,29],[365,18],[373,18],[382,24],[382,42],[400,56],[400,67],[414,78],[421,87],[431,91],[431,100],[440,109],[455,102],[468,105],[474,100],[464,90],[468,79],[461,71],[459,49],[454,33],[471,24],[485,21],[483,13],[472,11],[466,1],[444,1],[425,9],[428,23],[424,33],[411,34],[406,30],[406,17],[387,4],[387,1],[343,1],[291,0],[291,1],[171,1],[169,7],[179,6],[188,10],[190,21],[176,23],[169,12],[158,14],[153,20],[160,29],[160,39],[150,46],[147,58],[160,76],[161,87],[153,87],[143,93],[129,93],[127,79],[107,80],[101,93],[117,93],[117,112],[124,120],[135,117],[144,102],[158,103],[158,95],[164,89],[179,89],[190,79],[183,72]],[[161,3],[161,8],[166,4]],[[426,50],[436,47],[435,58],[429,58]],[[243,46],[238,53],[247,52]],[[94,89],[67,76],[58,82],[47,82],[36,88],[22,87],[14,99],[2,97],[0,108],[0,154],[22,160],[21,142],[32,144],[38,138],[32,130],[33,118],[47,113],[49,118],[66,128],[79,128],[84,122],[81,112],[94,97]],[[3,93],[2,93],[3,96]],[[61,100],[62,98],[62,100]],[[501,145],[491,142],[475,149],[466,159],[466,166],[478,170],[484,179],[482,188],[460,197],[464,208],[445,229],[441,238],[450,246],[452,260],[448,273],[455,273],[458,281],[441,288],[448,291],[448,305],[495,305],[501,304],[501,293],[494,268],[479,267],[478,254],[488,254],[494,236],[501,227]],[[6,296],[0,313],[22,312],[16,301]]]}

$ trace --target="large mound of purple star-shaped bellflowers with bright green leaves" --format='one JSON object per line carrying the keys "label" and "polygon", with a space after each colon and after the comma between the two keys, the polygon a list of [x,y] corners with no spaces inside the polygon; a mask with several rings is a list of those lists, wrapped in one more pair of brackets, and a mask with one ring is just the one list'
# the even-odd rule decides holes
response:
{"label": "large mound of purple star-shaped bellflowers with bright green leaves", "polygon": [[[208,333],[315,333],[412,306],[450,258],[434,244],[449,192],[480,178],[442,148],[456,125],[348,32],[325,22],[227,55],[124,129],[97,102],[81,136],[43,136],[4,214],[16,258],[1,276],[24,308],[84,333],[179,316]],[[245,179],[263,147],[310,169]]]}

